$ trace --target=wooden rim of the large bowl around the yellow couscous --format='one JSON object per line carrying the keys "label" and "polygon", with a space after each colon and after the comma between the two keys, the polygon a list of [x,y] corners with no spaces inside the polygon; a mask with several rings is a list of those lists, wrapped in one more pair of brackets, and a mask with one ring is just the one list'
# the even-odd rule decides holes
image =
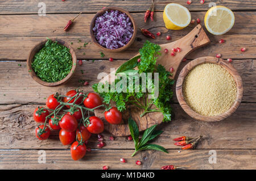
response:
{"label": "wooden rim of the large bowl around the yellow couscous", "polygon": [[[217,65],[220,65],[222,68],[225,68],[226,70],[228,70],[229,73],[234,78],[234,81],[236,82],[236,86],[237,86],[237,98],[234,101],[233,105],[229,108],[228,111],[216,116],[204,116],[193,111],[192,108],[188,106],[183,96],[183,82],[185,77],[187,76],[189,71],[191,71],[197,65],[205,64],[205,63],[217,64]],[[176,96],[183,110],[194,119],[200,120],[200,121],[207,121],[207,122],[221,121],[226,119],[230,115],[232,115],[232,113],[234,113],[241,104],[242,96],[243,96],[242,78],[238,74],[237,70],[234,69],[229,62],[226,62],[221,58],[216,58],[216,57],[196,58],[195,60],[192,60],[187,65],[185,65],[184,68],[180,71],[179,77],[177,79],[177,84],[176,84]]]}

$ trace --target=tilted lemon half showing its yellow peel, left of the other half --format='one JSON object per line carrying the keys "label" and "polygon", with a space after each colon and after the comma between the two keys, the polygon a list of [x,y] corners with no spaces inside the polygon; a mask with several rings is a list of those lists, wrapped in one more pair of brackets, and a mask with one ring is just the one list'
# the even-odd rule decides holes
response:
{"label": "tilted lemon half showing its yellow peel, left of the other half", "polygon": [[166,28],[181,30],[191,22],[191,14],[186,7],[177,3],[170,3],[164,8],[163,20]]}

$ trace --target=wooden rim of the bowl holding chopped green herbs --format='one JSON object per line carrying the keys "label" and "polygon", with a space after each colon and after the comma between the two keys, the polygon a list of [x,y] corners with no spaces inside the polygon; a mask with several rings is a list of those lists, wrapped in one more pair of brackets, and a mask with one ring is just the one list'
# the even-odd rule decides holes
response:
{"label": "wooden rim of the bowl holding chopped green herbs", "polygon": [[[35,54],[43,48],[43,46],[46,44],[47,42],[47,39],[46,40],[43,40],[41,41],[40,43],[34,45],[34,47],[30,50],[30,53],[28,53],[28,58],[27,58],[27,69],[28,69],[28,73],[30,74],[30,76],[32,77],[32,79],[34,79],[36,82],[40,83],[40,85],[43,85],[43,86],[48,86],[48,87],[54,87],[54,86],[60,86],[60,85],[63,85],[64,83],[66,83],[67,81],[69,81],[70,78],[72,78],[73,74],[75,73],[75,70],[76,70],[76,62],[77,62],[77,59],[76,59],[76,54],[75,54],[75,51],[73,50],[73,48],[71,47],[71,44],[65,42],[64,40],[61,40],[61,39],[51,39],[52,41],[57,41],[59,44],[69,48],[69,52],[71,53],[71,56],[72,56],[72,69],[71,71],[69,72],[69,74],[62,80],[58,81],[58,82],[45,82],[45,81],[42,81],[42,79],[40,79],[34,69],[32,69],[32,66],[31,66],[31,63],[32,61],[34,61],[34,56]],[[31,71],[30,71],[31,70]]]}

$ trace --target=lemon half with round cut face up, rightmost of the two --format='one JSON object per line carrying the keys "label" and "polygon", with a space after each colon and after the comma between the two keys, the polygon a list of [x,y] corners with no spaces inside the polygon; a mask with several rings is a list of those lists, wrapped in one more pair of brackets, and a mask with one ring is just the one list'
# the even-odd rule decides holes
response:
{"label": "lemon half with round cut face up, rightmost of the two", "polygon": [[234,14],[225,6],[213,6],[204,16],[204,24],[213,35],[223,35],[234,25]]}

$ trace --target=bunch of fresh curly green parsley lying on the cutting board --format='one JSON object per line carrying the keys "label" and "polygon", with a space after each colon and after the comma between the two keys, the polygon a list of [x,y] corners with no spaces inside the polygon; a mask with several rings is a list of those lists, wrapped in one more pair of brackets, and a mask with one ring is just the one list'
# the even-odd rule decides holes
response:
{"label": "bunch of fresh curly green parsley lying on the cutting board", "polygon": [[[156,60],[160,55],[160,46],[150,41],[146,41],[143,47],[139,50],[140,56],[136,56],[131,58],[131,60],[122,64],[116,71],[117,74],[128,75],[137,74],[137,73],[159,73],[159,95],[154,98],[153,92],[144,92],[142,91],[145,87],[142,85],[141,77],[134,77],[132,85],[126,85],[126,87],[118,87],[119,81],[122,79],[115,79],[112,83],[114,87],[118,87],[119,90],[127,89],[126,92],[123,91],[110,91],[111,85],[109,83],[97,83],[93,85],[93,90],[98,92],[100,96],[104,99],[106,104],[110,104],[110,100],[113,100],[119,111],[125,111],[127,104],[133,104],[139,108],[142,108],[144,112],[141,117],[144,116],[148,112],[162,112],[163,113],[163,121],[171,120],[171,98],[173,95],[172,85],[174,85],[174,80],[170,79],[171,73],[166,71],[164,66],[158,65],[156,66]],[[138,58],[141,58],[141,61],[138,62]],[[138,70],[134,68],[138,67]],[[147,74],[146,74],[147,76]],[[147,79],[147,77],[146,77]],[[151,80],[151,81],[148,81]],[[139,81],[139,91],[135,91],[135,81]],[[147,79],[147,85],[151,86],[151,90],[154,90],[154,78]],[[100,92],[98,90],[98,86],[103,89],[103,87],[107,86],[109,89],[106,92]],[[132,91],[131,91],[132,90]],[[153,97],[152,99],[148,99],[147,96],[150,95]],[[156,108],[152,108],[153,104]]]}

